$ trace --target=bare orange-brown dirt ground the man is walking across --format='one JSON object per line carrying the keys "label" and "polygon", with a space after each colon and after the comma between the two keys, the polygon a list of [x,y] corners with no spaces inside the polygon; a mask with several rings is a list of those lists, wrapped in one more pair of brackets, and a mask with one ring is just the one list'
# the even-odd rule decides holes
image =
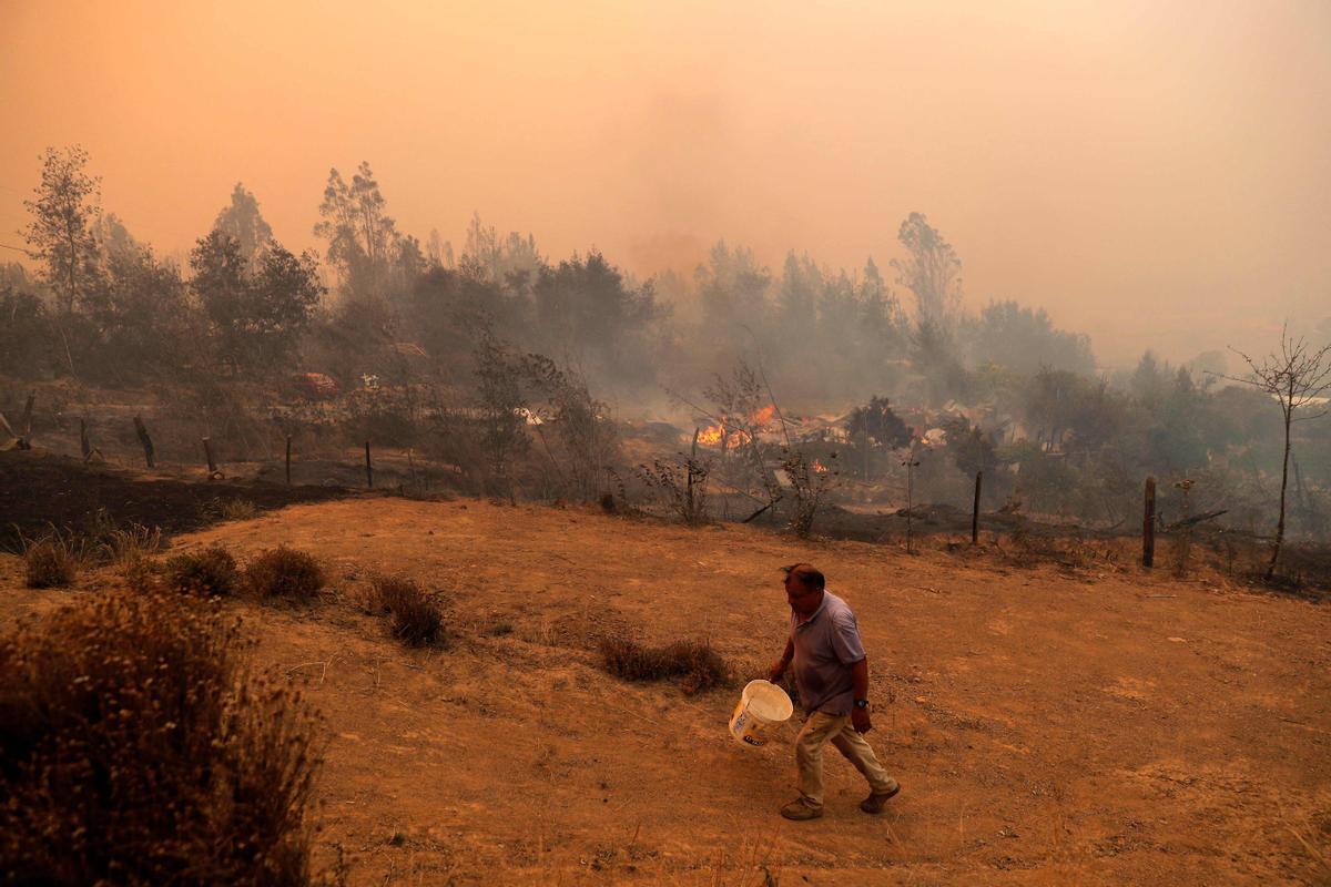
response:
{"label": "bare orange-brown dirt ground the man is walking across", "polygon": [[[309,609],[234,604],[326,718],[317,856],[351,884],[1272,884],[1331,868],[1331,609],[1135,569],[799,543],[591,511],[395,499],[293,505],[176,540],[305,548]],[[809,560],[869,650],[869,739],[902,791],[873,818],[829,750],[791,823],[795,725],[736,745],[729,690],[626,685],[604,632],[707,637],[753,673]],[[457,641],[411,652],[358,601],[374,570],[441,590]],[[8,622],[116,581],[20,588]],[[889,702],[893,699],[894,702]]]}

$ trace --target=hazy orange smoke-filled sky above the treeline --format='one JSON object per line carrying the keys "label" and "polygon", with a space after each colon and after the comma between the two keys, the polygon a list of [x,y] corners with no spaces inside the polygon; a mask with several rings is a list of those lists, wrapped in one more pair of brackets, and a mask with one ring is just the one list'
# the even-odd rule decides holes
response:
{"label": "hazy orange smoke-filled sky above the treeline", "polygon": [[11,245],[77,142],[168,254],[237,181],[315,247],[367,160],[406,233],[478,210],[639,277],[717,238],[885,267],[918,210],[972,309],[1045,306],[1106,364],[1331,317],[1324,0],[0,0],[0,120]]}

